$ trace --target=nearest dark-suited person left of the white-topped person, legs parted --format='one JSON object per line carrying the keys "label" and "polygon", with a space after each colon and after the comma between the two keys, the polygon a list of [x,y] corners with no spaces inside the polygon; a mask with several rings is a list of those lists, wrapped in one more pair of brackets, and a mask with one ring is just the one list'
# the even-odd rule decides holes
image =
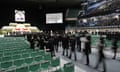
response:
{"label": "nearest dark-suited person left of the white-topped person, legs parted", "polygon": [[72,35],[70,37],[70,47],[71,47],[71,50],[70,50],[70,56],[69,56],[69,58],[71,59],[72,53],[74,53],[74,59],[76,61],[77,60],[77,56],[76,56],[75,43],[76,43],[75,35]]}

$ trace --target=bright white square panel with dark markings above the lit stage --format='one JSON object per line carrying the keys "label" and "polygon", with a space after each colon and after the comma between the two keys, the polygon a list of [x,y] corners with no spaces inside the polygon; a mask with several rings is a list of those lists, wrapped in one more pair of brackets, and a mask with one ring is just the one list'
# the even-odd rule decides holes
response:
{"label": "bright white square panel with dark markings above the lit stage", "polygon": [[25,22],[25,11],[15,10],[15,21]]}

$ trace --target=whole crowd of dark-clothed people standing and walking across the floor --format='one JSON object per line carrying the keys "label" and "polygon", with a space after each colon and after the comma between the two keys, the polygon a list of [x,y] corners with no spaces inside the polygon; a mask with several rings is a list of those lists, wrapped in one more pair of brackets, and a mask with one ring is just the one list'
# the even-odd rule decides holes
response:
{"label": "whole crowd of dark-clothed people standing and walking across the floor", "polygon": [[[104,72],[106,72],[106,64],[105,64],[105,55],[104,55],[104,48],[105,48],[105,38],[102,35],[106,35],[106,39],[112,39],[112,47],[111,49],[114,52],[113,59],[116,58],[116,53],[118,49],[118,36],[120,33],[105,33],[99,32],[97,33],[100,35],[99,42],[97,45],[98,49],[98,62],[95,68],[98,68],[99,64],[103,63]],[[84,39],[81,39],[84,38]],[[71,33],[39,33],[39,34],[28,34],[27,40],[30,43],[30,48],[35,49],[36,47],[45,51],[51,52],[51,56],[55,56],[55,52],[59,51],[61,46],[62,55],[66,56],[67,58],[71,59],[72,55],[74,54],[74,59],[77,61],[77,51],[81,52],[86,57],[86,65],[89,66],[89,55],[92,53],[92,46],[91,46],[91,35],[85,32],[77,32],[76,34]],[[82,43],[84,46],[82,47]],[[70,52],[70,53],[69,53]]]}

